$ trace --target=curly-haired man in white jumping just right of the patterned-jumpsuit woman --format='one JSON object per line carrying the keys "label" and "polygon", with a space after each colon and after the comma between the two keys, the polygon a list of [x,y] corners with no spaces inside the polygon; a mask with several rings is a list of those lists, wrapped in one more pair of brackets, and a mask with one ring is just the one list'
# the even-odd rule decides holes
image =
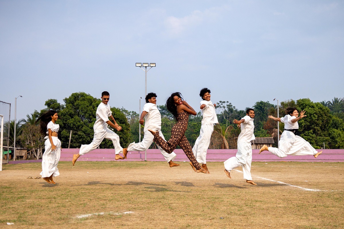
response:
{"label": "curly-haired man in white jumping just right of the patterned-jumpsuit woman", "polygon": [[202,126],[200,130],[200,136],[195,141],[195,145],[192,148],[192,152],[198,163],[202,163],[202,168],[207,173],[210,173],[207,168],[206,155],[207,149],[210,144],[210,138],[214,131],[214,125],[218,123],[215,112],[216,104],[210,101],[210,90],[208,88],[202,88],[200,96],[203,99],[201,101],[200,109],[202,111]]}

